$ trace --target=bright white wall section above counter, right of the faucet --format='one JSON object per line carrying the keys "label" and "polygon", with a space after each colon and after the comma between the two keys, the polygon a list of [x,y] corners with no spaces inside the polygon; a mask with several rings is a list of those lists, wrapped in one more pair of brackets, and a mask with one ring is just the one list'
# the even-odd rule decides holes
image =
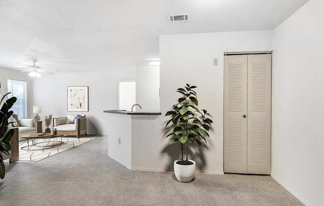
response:
{"label": "bright white wall section above counter, right of the faucet", "polygon": [[160,111],[160,66],[136,67],[137,111]]}

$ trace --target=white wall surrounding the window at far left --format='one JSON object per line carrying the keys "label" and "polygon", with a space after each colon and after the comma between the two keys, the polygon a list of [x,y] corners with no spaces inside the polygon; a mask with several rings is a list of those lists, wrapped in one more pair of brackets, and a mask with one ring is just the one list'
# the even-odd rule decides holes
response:
{"label": "white wall surrounding the window at far left", "polygon": [[20,71],[12,69],[0,68],[0,82],[1,82],[1,96],[7,93],[7,79],[20,80],[27,82],[27,117],[34,118],[32,110],[32,91],[33,80],[28,76],[28,73],[22,73]]}

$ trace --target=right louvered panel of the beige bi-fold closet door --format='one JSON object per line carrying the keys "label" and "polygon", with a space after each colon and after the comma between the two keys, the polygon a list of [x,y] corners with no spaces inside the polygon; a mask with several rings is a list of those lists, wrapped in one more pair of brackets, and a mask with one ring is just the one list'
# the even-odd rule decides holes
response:
{"label": "right louvered panel of the beige bi-fold closet door", "polygon": [[271,54],[247,56],[247,173],[270,174]]}

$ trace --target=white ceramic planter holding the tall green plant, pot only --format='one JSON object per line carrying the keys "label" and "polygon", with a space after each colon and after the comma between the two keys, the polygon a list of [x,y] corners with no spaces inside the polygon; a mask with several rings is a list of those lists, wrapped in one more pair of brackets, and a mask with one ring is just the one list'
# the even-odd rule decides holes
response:
{"label": "white ceramic planter holding the tall green plant, pot only", "polygon": [[176,163],[179,160],[180,159],[175,160],[173,163],[175,177],[178,179],[179,182],[190,182],[195,176],[196,162],[189,159],[189,161],[191,161],[193,164],[180,165]]}

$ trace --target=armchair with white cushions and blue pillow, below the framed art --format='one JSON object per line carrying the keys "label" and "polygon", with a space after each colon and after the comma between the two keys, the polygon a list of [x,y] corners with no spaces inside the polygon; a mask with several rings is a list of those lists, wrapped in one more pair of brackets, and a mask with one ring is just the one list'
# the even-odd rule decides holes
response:
{"label": "armchair with white cushions and blue pillow, below the framed art", "polygon": [[68,115],[68,117],[53,118],[53,130],[57,130],[57,134],[75,135],[80,138],[82,134],[86,135],[86,117],[75,119],[75,115]]}

